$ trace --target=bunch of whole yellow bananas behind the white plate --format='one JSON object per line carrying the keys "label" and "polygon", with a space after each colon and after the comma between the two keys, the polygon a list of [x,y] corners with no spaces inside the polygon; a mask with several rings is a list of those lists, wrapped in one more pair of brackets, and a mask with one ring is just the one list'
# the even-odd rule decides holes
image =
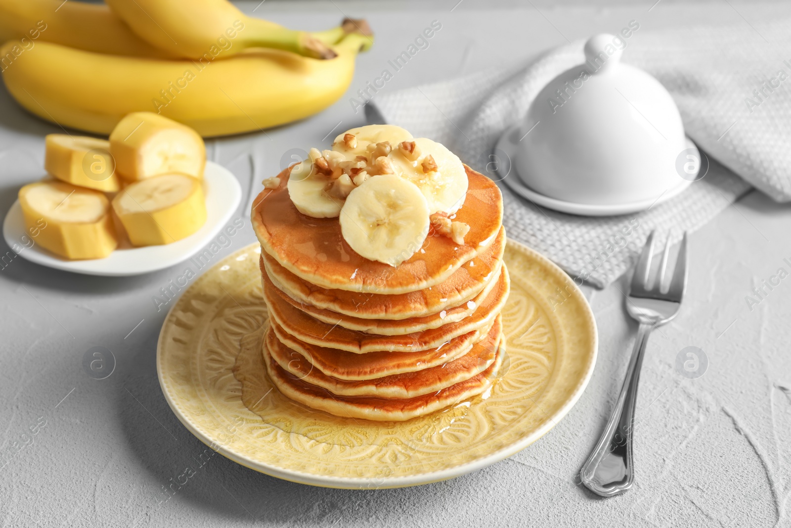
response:
{"label": "bunch of whole yellow bananas behind the white plate", "polygon": [[293,31],[226,0],[108,4],[0,0],[0,70],[19,104],[104,135],[132,112],[238,134],[333,104],[373,43],[365,21]]}

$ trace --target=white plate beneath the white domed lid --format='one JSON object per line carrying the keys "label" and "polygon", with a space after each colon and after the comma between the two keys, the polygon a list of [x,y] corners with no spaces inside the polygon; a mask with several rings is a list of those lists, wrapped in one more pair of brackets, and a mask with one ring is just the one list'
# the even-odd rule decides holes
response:
{"label": "white plate beneath the white domed lid", "polygon": [[[522,198],[528,199],[536,205],[554,209],[554,211],[560,211],[570,215],[583,216],[628,215],[638,211],[645,211],[645,209],[648,209],[649,207],[666,202],[668,199],[679,195],[680,192],[683,192],[683,190],[689,187],[692,183],[692,180],[684,180],[683,178],[679,177],[678,184],[668,188],[656,198],[644,199],[638,202],[619,203],[616,205],[592,205],[590,203],[566,202],[561,199],[550,198],[549,196],[545,196],[534,191],[532,188],[529,188],[522,180],[520,180],[520,177],[517,174],[516,165],[512,160],[516,158],[517,145],[519,144],[519,141],[515,141],[518,134],[514,134],[513,131],[519,126],[520,125],[517,124],[513,127],[510,127],[498,140],[494,151],[494,157],[498,158],[498,154],[501,153],[505,156],[506,162],[502,162],[498,159],[498,162],[495,164],[495,172],[497,173],[500,180],[505,181],[505,184]],[[689,148],[697,150],[697,147],[689,138],[687,138],[687,145]],[[699,154],[698,159],[700,159]]]}

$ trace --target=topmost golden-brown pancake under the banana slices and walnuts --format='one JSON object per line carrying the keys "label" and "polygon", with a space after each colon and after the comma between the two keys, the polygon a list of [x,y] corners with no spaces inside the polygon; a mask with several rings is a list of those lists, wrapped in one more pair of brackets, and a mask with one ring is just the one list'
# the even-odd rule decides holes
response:
{"label": "topmost golden-brown pancake under the banana slices and walnuts", "polygon": [[252,226],[261,243],[284,268],[309,283],[329,289],[375,294],[403,294],[433,287],[494,241],[502,222],[502,197],[492,180],[466,167],[469,185],[455,220],[467,223],[464,244],[430,234],[422,249],[393,268],[368,260],[346,243],[338,218],[302,215],[291,202],[286,183],[264,189],[252,208]]}

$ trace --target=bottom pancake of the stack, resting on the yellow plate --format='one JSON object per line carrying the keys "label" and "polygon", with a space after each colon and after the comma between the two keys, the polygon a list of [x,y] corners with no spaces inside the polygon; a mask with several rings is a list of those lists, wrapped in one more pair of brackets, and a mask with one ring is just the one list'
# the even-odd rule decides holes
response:
{"label": "bottom pancake of the stack, resting on the yellow plate", "polygon": [[335,396],[327,389],[312,386],[284,370],[263,348],[264,363],[274,386],[286,397],[310,408],[329,412],[335,416],[377,421],[403,421],[438,411],[448,405],[468,401],[488,389],[497,378],[505,355],[505,340],[500,340],[494,362],[464,382],[456,383],[436,393],[403,399],[385,399],[367,396]]}

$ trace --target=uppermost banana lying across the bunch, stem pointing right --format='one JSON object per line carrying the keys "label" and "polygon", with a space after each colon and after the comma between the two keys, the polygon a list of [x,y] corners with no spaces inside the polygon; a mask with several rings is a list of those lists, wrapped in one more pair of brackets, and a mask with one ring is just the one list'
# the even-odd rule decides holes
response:
{"label": "uppermost banana lying across the bunch, stem pointing right", "polygon": [[[107,0],[119,17],[149,44],[187,59],[210,50],[236,55],[248,47],[272,47],[314,59],[335,54],[308,32],[248,17],[227,0]],[[213,54],[214,55],[214,54]]]}

